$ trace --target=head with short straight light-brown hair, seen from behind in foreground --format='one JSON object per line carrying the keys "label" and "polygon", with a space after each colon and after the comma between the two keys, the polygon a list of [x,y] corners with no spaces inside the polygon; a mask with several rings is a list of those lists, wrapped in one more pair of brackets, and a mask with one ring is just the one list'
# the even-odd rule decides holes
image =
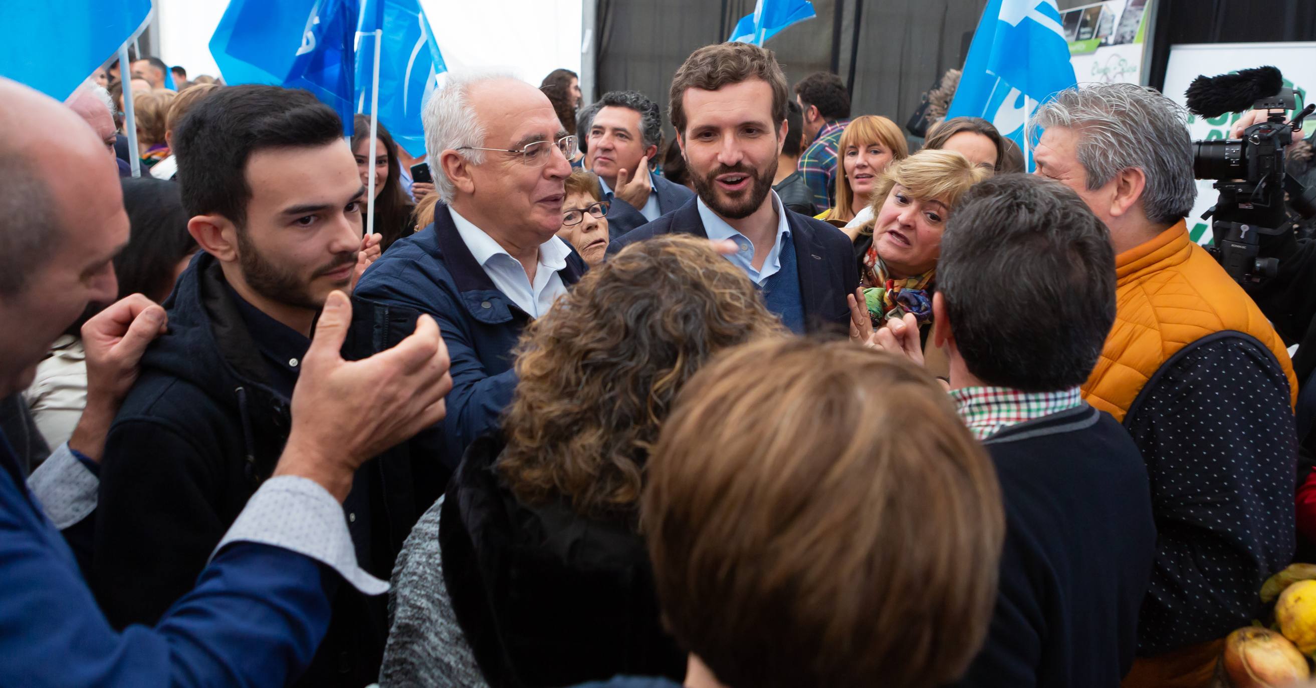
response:
{"label": "head with short straight light-brown hair, seen from behind in foreground", "polygon": [[945,685],[991,620],[991,460],[936,379],[849,342],[755,342],[695,375],[641,516],[688,688]]}

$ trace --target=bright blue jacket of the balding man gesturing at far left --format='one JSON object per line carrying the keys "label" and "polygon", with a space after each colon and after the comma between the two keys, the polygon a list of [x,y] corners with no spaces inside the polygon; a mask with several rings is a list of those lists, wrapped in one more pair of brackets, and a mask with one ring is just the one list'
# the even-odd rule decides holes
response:
{"label": "bright blue jacket of the balding man gesturing at far left", "polygon": [[155,627],[111,627],[64,538],[0,435],[0,683],[4,685],[284,685],[329,626],[330,568],[237,542]]}

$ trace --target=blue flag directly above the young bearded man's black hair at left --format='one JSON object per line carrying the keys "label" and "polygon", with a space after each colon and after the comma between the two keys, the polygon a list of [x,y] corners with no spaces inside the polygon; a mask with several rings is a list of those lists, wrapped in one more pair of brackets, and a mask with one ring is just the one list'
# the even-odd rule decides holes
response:
{"label": "blue flag directly above the young bearded man's black hair at left", "polygon": [[232,0],[211,54],[229,84],[305,88],[351,133],[357,0]]}

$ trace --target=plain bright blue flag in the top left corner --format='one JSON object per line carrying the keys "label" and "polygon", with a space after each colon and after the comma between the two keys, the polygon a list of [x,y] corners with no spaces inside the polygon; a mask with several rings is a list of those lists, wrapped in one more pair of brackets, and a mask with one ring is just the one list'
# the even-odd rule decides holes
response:
{"label": "plain bright blue flag in the top left corner", "polygon": [[150,13],[151,0],[5,0],[0,76],[66,100]]}

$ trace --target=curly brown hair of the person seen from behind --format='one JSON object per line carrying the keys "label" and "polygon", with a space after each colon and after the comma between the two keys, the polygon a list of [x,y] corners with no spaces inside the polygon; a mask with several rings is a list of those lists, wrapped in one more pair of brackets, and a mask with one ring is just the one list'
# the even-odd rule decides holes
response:
{"label": "curly brown hair of the person seen from behind", "polygon": [[633,520],[676,392],[719,351],[784,333],[707,239],[663,235],[591,270],[516,349],[496,470],[522,504]]}

